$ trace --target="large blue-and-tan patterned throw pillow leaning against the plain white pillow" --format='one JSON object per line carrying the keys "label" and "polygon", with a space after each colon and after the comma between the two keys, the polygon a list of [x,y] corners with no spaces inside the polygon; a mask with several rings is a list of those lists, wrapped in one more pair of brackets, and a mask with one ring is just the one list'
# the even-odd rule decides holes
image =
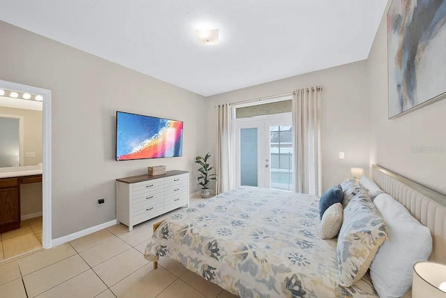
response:
{"label": "large blue-and-tan patterned throw pillow leaning against the plain white pillow", "polygon": [[339,285],[350,287],[364,276],[389,232],[367,190],[357,193],[344,209],[337,241]]}

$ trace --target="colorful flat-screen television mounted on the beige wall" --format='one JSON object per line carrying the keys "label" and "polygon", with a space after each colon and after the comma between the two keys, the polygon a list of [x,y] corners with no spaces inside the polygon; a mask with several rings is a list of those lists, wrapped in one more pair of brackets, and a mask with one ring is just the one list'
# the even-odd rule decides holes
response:
{"label": "colorful flat-screen television mounted on the beige wall", "polygon": [[183,156],[183,121],[116,112],[116,161]]}

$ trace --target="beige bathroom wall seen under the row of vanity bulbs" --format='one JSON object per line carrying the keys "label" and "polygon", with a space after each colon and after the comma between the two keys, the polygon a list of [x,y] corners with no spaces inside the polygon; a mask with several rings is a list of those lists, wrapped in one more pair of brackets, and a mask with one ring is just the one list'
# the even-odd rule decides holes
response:
{"label": "beige bathroom wall seen under the row of vanity bulbs", "polygon": [[36,157],[24,158],[24,165],[42,163],[42,112],[0,107],[0,114],[24,117],[24,151],[36,152]]}

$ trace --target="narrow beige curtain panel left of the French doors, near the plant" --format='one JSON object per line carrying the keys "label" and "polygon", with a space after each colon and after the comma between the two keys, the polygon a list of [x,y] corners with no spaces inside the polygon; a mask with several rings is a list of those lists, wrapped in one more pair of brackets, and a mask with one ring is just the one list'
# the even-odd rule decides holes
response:
{"label": "narrow beige curtain panel left of the French doors, near the plant", "polygon": [[224,193],[232,188],[231,174],[231,105],[215,107],[217,131],[215,142],[215,193]]}

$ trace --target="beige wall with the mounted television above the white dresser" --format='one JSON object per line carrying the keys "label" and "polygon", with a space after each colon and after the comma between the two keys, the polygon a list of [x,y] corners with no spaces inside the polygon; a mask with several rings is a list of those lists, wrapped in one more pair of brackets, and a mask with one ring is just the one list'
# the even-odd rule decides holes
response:
{"label": "beige wall with the mounted television above the white dresser", "polygon": [[[191,171],[197,191],[202,96],[4,22],[0,36],[0,80],[52,91],[53,238],[114,220],[115,179],[148,165]],[[183,120],[183,157],[114,161],[116,110]]]}

